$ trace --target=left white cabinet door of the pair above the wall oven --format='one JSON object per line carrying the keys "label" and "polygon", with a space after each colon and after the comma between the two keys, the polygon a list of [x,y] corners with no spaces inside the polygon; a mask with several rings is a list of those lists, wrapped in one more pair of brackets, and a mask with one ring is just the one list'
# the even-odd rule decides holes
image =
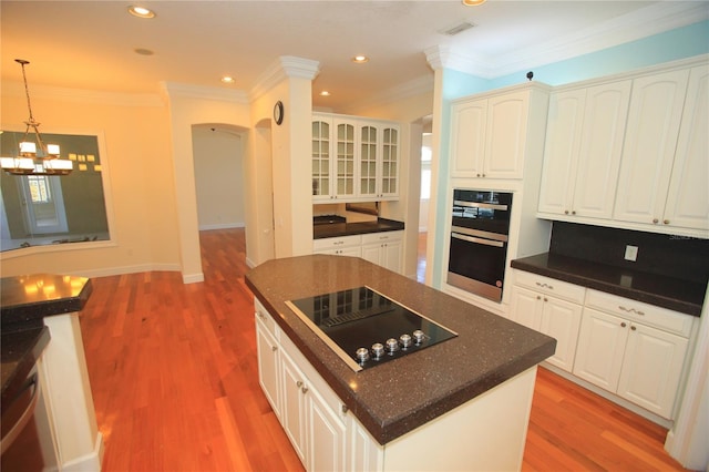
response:
{"label": "left white cabinet door of the pair above the wall oven", "polygon": [[482,177],[487,100],[456,103],[451,110],[451,175]]}

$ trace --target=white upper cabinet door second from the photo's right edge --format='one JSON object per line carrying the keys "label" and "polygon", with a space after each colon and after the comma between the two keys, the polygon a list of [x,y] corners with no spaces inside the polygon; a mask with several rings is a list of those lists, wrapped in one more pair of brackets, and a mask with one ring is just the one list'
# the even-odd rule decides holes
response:
{"label": "white upper cabinet door second from the photo's right edge", "polygon": [[615,219],[661,224],[688,78],[685,70],[633,81]]}

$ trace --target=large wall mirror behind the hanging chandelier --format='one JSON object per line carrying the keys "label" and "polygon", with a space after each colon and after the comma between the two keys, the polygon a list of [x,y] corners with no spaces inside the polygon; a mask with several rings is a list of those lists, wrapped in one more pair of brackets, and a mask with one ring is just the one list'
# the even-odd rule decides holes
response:
{"label": "large wall mirror behind the hanging chandelier", "polygon": [[[0,156],[14,157],[23,132],[0,132]],[[110,240],[99,137],[42,133],[73,163],[69,175],[0,172],[0,249]]]}

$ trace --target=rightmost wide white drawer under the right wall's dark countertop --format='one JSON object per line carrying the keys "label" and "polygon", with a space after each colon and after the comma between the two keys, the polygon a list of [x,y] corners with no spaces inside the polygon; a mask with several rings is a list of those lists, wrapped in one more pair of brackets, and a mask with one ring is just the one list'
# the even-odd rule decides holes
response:
{"label": "rightmost wide white drawer under the right wall's dark countertop", "polygon": [[588,289],[586,295],[586,306],[675,332],[685,338],[689,337],[693,322],[689,315],[592,289]]}

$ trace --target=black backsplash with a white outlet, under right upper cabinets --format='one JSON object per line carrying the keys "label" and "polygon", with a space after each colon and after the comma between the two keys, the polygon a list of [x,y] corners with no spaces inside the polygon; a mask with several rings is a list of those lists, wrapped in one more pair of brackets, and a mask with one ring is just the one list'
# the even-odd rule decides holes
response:
{"label": "black backsplash with a white outlet, under right upper cabinets", "polygon": [[[635,263],[626,245],[638,247]],[[706,284],[709,239],[554,222],[549,253]]]}

